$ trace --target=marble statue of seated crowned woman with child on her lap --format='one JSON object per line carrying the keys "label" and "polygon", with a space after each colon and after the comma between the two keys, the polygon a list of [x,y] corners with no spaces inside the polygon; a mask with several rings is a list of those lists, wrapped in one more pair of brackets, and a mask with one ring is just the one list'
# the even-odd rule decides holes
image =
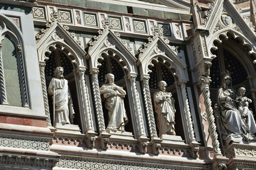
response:
{"label": "marble statue of seated crowned woman with child on her lap", "polygon": [[[244,90],[240,90],[240,96],[232,88],[230,72],[221,74],[221,86],[217,91],[217,104],[221,110],[223,139],[227,142],[242,142],[255,139],[256,124],[252,111],[248,109],[248,98],[244,97]],[[244,114],[244,115],[243,115]]]}

